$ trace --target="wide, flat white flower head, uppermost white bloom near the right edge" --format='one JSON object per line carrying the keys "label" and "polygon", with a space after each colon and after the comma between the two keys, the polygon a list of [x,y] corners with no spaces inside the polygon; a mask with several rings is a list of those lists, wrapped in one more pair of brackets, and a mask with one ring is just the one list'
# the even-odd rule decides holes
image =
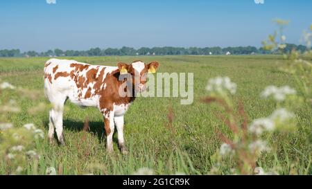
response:
{"label": "wide, flat white flower head, uppermost white bloom near the right edge", "polygon": [[289,86],[284,87],[276,87],[273,85],[270,85],[264,89],[264,91],[261,92],[260,96],[261,98],[270,98],[277,100],[278,102],[284,101],[286,99],[286,96],[288,95],[295,95],[296,91],[295,89],[292,89]]}

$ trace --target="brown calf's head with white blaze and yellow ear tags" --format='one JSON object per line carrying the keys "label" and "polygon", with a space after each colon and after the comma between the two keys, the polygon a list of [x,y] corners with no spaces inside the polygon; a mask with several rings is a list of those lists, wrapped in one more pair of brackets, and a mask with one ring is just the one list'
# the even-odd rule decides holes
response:
{"label": "brown calf's head with white blaze and yellow ear tags", "polygon": [[128,74],[128,78],[130,78],[130,82],[132,82],[135,91],[143,92],[146,90],[147,74],[155,73],[159,63],[150,62],[149,64],[145,64],[138,60],[131,64],[119,62],[117,66],[121,75]]}

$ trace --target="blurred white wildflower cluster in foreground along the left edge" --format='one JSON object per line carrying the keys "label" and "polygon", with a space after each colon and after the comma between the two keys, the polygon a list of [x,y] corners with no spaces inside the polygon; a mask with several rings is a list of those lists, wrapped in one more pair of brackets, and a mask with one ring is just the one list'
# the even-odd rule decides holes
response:
{"label": "blurred white wildflower cluster in foreground along the left edge", "polygon": [[[0,83],[0,93],[6,90],[22,90],[8,82]],[[37,143],[42,142],[44,132],[28,123],[15,127],[7,119],[8,115],[20,112],[15,100],[9,99],[4,104],[0,101],[0,169],[7,174],[27,174],[30,166],[36,168],[40,159]],[[33,171],[35,173],[36,170]]]}

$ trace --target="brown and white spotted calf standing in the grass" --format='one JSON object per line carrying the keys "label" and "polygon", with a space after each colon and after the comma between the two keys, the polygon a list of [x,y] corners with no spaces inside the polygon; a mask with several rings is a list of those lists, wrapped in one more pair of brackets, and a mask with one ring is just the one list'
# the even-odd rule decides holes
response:
{"label": "brown and white spotted calf standing in the grass", "polygon": [[[103,114],[107,135],[107,151],[113,150],[112,135],[116,125],[121,152],[126,153],[123,140],[123,116],[135,100],[135,93],[146,90],[147,73],[155,73],[158,62],[135,61],[117,66],[96,66],[74,60],[51,59],[44,65],[44,93],[53,108],[49,116],[49,139],[54,128],[58,141],[64,145],[63,109],[69,99],[81,107],[98,107]],[[125,76],[122,77],[122,76]]]}

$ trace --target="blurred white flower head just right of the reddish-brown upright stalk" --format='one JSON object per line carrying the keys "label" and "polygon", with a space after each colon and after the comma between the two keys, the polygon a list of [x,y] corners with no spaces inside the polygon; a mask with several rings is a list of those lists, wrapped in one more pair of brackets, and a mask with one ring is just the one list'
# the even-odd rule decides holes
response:
{"label": "blurred white flower head just right of the reddish-brown upright stalk", "polygon": [[270,118],[255,119],[249,127],[249,131],[253,134],[260,135],[263,131],[272,131],[275,124]]}

